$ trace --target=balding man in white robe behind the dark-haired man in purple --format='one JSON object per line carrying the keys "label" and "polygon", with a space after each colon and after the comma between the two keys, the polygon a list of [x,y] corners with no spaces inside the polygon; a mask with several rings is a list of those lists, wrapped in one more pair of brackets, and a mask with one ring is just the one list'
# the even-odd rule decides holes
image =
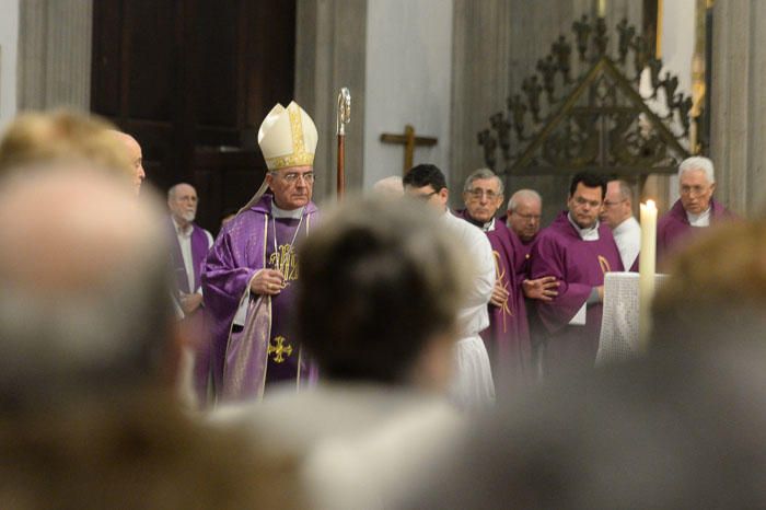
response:
{"label": "balding man in white robe behind the dark-haired man in purple", "polygon": [[638,264],[636,260],[641,251],[641,225],[632,216],[632,189],[628,183],[623,179],[607,183],[601,221],[612,229],[625,270]]}

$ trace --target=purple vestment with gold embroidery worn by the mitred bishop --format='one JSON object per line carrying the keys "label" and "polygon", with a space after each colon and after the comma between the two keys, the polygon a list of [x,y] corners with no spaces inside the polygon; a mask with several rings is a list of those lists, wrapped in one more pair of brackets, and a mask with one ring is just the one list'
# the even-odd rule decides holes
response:
{"label": "purple vestment with gold embroidery worn by the mitred bishop", "polygon": [[[316,213],[316,206],[309,202],[300,219],[275,218],[271,195],[264,195],[218,235],[202,274],[218,399],[260,398],[270,384],[293,382],[300,386],[315,379],[313,367],[310,370],[301,356],[290,316],[298,279],[294,248]],[[264,268],[279,269],[285,276],[287,287],[279,294],[249,292],[251,280]],[[237,314],[241,308],[246,315]]]}

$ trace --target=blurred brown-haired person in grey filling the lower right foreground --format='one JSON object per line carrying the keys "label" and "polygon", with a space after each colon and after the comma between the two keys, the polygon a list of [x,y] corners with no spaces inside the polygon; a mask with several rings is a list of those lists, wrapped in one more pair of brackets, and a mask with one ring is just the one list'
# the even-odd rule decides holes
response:
{"label": "blurred brown-haired person in grey filling the lower right foreground", "polygon": [[648,356],[487,417],[413,508],[766,506],[766,222],[672,262]]}

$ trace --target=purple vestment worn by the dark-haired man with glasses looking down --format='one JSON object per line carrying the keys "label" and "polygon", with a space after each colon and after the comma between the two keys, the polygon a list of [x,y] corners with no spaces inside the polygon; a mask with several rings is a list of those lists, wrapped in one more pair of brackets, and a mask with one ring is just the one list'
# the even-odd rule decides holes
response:
{"label": "purple vestment worn by the dark-haired man with glasses looking down", "polygon": [[592,368],[599,349],[602,304],[587,306],[585,324],[570,324],[594,287],[604,285],[607,271],[622,271],[623,262],[607,225],[599,225],[599,239],[583,241],[569,222],[567,211],[537,234],[530,259],[530,278],[555,276],[558,295],[537,303],[543,324],[546,374]]}

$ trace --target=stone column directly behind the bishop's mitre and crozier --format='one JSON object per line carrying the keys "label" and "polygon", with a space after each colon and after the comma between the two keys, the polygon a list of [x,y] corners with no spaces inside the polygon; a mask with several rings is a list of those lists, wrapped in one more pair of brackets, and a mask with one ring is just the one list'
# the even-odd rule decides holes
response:
{"label": "stone column directly behind the bishop's mitre and crozier", "polygon": [[336,189],[336,102],[351,91],[351,124],[346,132],[346,188],[360,189],[364,144],[367,0],[301,0],[295,40],[295,100],[320,132],[314,166],[315,200]]}

